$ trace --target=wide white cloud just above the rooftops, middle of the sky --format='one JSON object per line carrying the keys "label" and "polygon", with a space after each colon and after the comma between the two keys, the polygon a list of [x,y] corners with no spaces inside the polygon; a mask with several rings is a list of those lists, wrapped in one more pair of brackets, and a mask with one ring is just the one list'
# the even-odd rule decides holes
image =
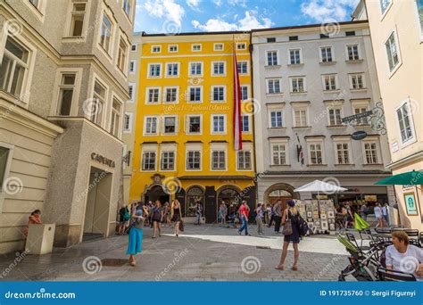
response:
{"label": "wide white cloud just above the rooftops, middle of the sky", "polygon": [[191,24],[195,27],[195,29],[213,32],[270,28],[273,22],[269,18],[257,16],[256,11],[246,11],[245,17],[236,22],[228,22],[221,18],[216,18],[209,19],[204,24],[194,20],[191,21]]}

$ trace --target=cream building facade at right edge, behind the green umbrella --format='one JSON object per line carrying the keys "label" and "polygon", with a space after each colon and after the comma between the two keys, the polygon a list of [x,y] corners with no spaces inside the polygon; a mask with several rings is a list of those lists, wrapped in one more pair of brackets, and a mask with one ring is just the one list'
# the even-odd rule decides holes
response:
{"label": "cream building facade at right edge, behind the green umbrella", "polygon": [[[361,1],[353,14],[369,20],[386,115],[393,174],[423,169],[423,2]],[[402,224],[423,228],[422,185],[395,186]]]}

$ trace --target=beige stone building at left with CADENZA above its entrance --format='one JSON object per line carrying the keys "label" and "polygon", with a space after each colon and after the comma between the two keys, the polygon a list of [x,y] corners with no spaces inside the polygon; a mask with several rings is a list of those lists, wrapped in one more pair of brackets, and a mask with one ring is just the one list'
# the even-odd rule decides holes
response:
{"label": "beige stone building at left with CADENZA above its entrance", "polygon": [[114,232],[135,4],[0,3],[1,253],[36,209],[55,246]]}

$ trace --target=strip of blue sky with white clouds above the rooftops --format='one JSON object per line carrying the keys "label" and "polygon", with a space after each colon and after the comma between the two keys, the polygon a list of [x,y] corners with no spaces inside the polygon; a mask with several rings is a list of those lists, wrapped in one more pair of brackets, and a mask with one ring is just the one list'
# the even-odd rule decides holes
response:
{"label": "strip of blue sky with white clouds above the rooftops", "polygon": [[358,0],[137,0],[136,31],[246,30],[349,21]]}

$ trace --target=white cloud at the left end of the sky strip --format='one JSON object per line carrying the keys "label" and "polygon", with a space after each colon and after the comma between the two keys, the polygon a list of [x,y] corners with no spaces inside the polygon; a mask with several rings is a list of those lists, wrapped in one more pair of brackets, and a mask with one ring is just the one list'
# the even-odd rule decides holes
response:
{"label": "white cloud at the left end of the sky strip", "polygon": [[182,18],[185,16],[184,8],[177,4],[175,0],[147,0],[144,9],[150,16],[175,22],[179,27],[182,24]]}

